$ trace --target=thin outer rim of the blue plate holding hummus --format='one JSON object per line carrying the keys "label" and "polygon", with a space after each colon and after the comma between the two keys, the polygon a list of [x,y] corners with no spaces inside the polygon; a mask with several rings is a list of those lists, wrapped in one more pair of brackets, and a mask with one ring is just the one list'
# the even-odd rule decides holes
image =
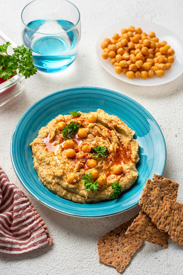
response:
{"label": "thin outer rim of the blue plate holding hummus", "polygon": [[[68,92],[69,90],[77,90],[77,89],[82,89],[82,90],[86,90],[86,89],[89,89],[89,90],[95,90],[95,89],[99,89],[99,90],[103,90],[103,91],[106,91],[106,92],[112,92],[112,93],[114,93],[114,94],[116,94],[116,95],[118,95],[118,96],[122,96],[122,97],[124,97],[125,99],[127,99],[127,100],[130,100],[130,101],[133,101],[133,103],[135,103],[137,106],[139,106],[140,108],[142,108],[143,109],[143,111],[145,111],[150,117],[151,117],[151,119],[156,123],[156,125],[157,125],[157,127],[158,127],[158,129],[159,129],[159,131],[160,131],[160,133],[161,133],[161,137],[162,137],[162,139],[163,139],[163,142],[164,142],[164,150],[165,150],[165,160],[164,160],[164,165],[163,165],[163,168],[162,168],[162,172],[161,172],[161,176],[162,176],[162,174],[163,174],[163,172],[164,172],[164,169],[165,169],[165,164],[166,164],[166,159],[167,159],[167,149],[166,149],[166,143],[165,143],[165,139],[164,139],[164,136],[163,136],[163,133],[162,133],[162,131],[161,131],[161,128],[159,127],[159,125],[158,125],[158,123],[157,123],[157,121],[154,119],[154,117],[150,114],[150,112],[148,112],[147,111],[147,109],[145,109],[140,103],[138,103],[137,101],[135,101],[134,99],[132,99],[132,98],[130,98],[130,97],[128,97],[128,96],[126,96],[126,95],[123,95],[123,94],[121,94],[121,93],[119,93],[119,92],[116,92],[116,91],[113,91],[113,90],[110,90],[110,89],[105,89],[105,88],[101,88],[101,87],[91,87],[91,86],[78,86],[78,87],[71,87],[71,88],[66,88],[66,89],[62,89],[62,90],[57,90],[57,91],[55,91],[55,92],[53,92],[53,93],[50,93],[50,94],[48,94],[48,95],[45,95],[44,97],[41,97],[40,99],[38,99],[37,101],[35,101],[32,105],[30,105],[29,106],[29,108],[27,108],[26,109],[26,111],[24,111],[24,113],[21,115],[21,117],[19,118],[19,120],[17,121],[17,123],[16,123],[16,125],[15,125],[15,128],[14,128],[14,130],[13,130],[13,133],[12,133],[12,137],[11,137],[11,142],[10,142],[10,155],[11,155],[11,161],[12,161],[12,165],[13,165],[13,169],[14,169],[14,171],[15,171],[15,174],[16,174],[16,176],[17,176],[17,178],[18,178],[18,180],[19,180],[19,182],[22,184],[22,186],[26,189],[26,191],[29,193],[29,194],[31,194],[36,200],[38,200],[41,204],[43,204],[43,205],[45,205],[46,207],[48,207],[48,208],[50,208],[50,209],[52,209],[52,210],[54,210],[54,211],[56,211],[56,212],[58,212],[58,213],[62,213],[62,214],[64,214],[64,215],[68,215],[68,216],[74,216],[74,217],[80,217],[80,218],[102,218],[102,217],[108,217],[108,216],[113,216],[113,215],[117,215],[117,214],[119,214],[119,213],[123,213],[123,212],[125,212],[125,211],[127,211],[127,210],[129,210],[129,209],[131,209],[131,208],[133,208],[133,207],[135,207],[138,203],[139,203],[139,200],[137,200],[136,202],[133,202],[133,204],[131,205],[131,207],[129,207],[128,209],[125,209],[125,210],[122,210],[122,211],[118,211],[118,212],[115,212],[115,213],[112,213],[112,214],[109,214],[109,215],[104,215],[104,214],[100,214],[100,215],[94,215],[94,216],[92,216],[92,215],[89,215],[89,216],[87,216],[87,215],[85,215],[85,214],[83,214],[83,215],[75,215],[75,214],[72,214],[72,213],[70,213],[69,211],[60,211],[60,210],[57,210],[57,209],[55,209],[54,207],[51,207],[51,206],[49,206],[47,203],[45,203],[42,199],[39,199],[39,198],[37,198],[36,197],[36,195],[26,186],[26,184],[24,183],[24,181],[21,179],[21,176],[19,175],[19,172],[18,172],[18,170],[16,169],[16,165],[15,165],[15,162],[14,162],[14,159],[13,159],[13,150],[12,150],[12,145],[13,145],[13,136],[14,136],[14,134],[15,134],[15,131],[16,131],[16,128],[18,128],[18,124],[19,124],[19,122],[21,121],[21,119],[22,119],[22,117],[24,117],[24,115],[27,113],[27,112],[29,112],[29,110],[33,107],[33,106],[35,106],[38,102],[40,102],[40,101],[42,101],[42,100],[44,100],[45,98],[49,98],[49,97],[52,97],[53,95],[56,95],[56,94],[59,94],[59,93],[63,93],[63,92]],[[51,191],[50,191],[51,192]]]}

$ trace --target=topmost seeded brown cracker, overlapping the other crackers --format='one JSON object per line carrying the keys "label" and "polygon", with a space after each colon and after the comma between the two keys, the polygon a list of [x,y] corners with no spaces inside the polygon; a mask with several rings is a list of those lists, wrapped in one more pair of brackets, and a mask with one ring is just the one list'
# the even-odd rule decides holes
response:
{"label": "topmost seeded brown cracker, overlapping the other crackers", "polygon": [[160,231],[168,232],[173,241],[183,245],[183,204],[165,198],[161,189],[147,179],[139,205]]}

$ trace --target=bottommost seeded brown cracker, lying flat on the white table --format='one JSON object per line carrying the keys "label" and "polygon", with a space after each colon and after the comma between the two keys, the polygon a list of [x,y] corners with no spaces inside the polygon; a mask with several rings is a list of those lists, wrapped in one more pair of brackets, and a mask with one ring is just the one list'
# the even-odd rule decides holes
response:
{"label": "bottommost seeded brown cracker, lying flat on the white table", "polygon": [[143,243],[142,240],[134,240],[132,237],[125,236],[134,218],[98,239],[99,262],[114,266],[118,272],[123,272],[133,254]]}

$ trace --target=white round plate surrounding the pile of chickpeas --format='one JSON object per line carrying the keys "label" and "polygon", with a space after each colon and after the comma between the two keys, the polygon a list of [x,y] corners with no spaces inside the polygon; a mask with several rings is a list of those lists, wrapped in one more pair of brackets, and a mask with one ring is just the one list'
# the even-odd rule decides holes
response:
{"label": "white round plate surrounding the pile of chickpeas", "polygon": [[[121,33],[121,29],[126,28],[128,29],[130,26],[134,26],[135,29],[137,27],[140,27],[143,32],[146,32],[147,34],[150,31],[155,32],[156,37],[159,38],[159,41],[167,41],[167,45],[170,45],[171,48],[174,49],[175,54],[174,58],[175,61],[171,66],[170,70],[165,70],[165,74],[162,77],[157,77],[156,75],[153,78],[147,78],[147,79],[142,79],[142,78],[134,78],[134,79],[128,79],[124,73],[121,73],[120,75],[117,75],[114,71],[114,66],[110,64],[111,58],[103,59],[102,58],[102,53],[103,50],[100,47],[101,43],[103,42],[104,38],[112,38],[113,34],[115,33]],[[183,42],[181,39],[174,34],[172,31],[169,29],[162,27],[156,23],[152,22],[138,22],[138,21],[122,21],[120,23],[116,23],[107,29],[105,29],[100,36],[98,37],[97,44],[96,44],[96,54],[98,57],[98,60],[102,64],[102,66],[105,68],[105,70],[113,75],[114,77],[130,83],[134,85],[139,85],[139,86],[156,86],[156,85],[161,85],[168,83],[174,79],[176,79],[181,73],[183,72]]]}

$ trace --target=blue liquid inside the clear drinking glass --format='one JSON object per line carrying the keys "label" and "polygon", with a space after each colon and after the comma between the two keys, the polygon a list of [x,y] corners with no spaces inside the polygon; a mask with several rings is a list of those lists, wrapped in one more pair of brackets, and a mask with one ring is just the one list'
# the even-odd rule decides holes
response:
{"label": "blue liquid inside the clear drinking glass", "polygon": [[78,52],[78,30],[75,27],[64,32],[72,27],[74,24],[65,20],[35,20],[27,24],[22,40],[32,50],[35,67],[57,72],[74,61]]}

